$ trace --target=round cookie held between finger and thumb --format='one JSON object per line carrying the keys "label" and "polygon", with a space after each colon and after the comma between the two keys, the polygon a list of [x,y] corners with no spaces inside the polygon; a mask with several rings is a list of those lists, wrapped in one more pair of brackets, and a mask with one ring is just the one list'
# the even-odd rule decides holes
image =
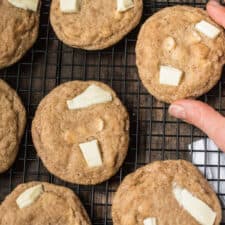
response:
{"label": "round cookie held between finger and thumb", "polygon": [[[221,33],[210,39],[198,32],[201,20]],[[189,7],[167,7],[150,17],[141,27],[136,44],[136,63],[146,89],[158,100],[171,103],[198,97],[220,79],[225,63],[225,34],[206,11]],[[183,71],[178,86],[159,83],[161,65]]]}

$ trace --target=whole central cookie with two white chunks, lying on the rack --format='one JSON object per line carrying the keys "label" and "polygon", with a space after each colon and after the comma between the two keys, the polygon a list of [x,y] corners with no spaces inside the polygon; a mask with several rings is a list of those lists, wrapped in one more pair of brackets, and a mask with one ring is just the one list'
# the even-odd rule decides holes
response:
{"label": "whole central cookie with two white chunks, lying on the rack", "polygon": [[[111,101],[68,108],[68,100],[92,87],[111,96]],[[94,95],[94,100],[99,99],[95,90]],[[89,100],[86,96],[78,102]],[[55,176],[71,183],[97,184],[113,176],[124,161],[129,116],[115,92],[104,83],[67,82],[39,104],[32,122],[32,137],[43,164]]]}

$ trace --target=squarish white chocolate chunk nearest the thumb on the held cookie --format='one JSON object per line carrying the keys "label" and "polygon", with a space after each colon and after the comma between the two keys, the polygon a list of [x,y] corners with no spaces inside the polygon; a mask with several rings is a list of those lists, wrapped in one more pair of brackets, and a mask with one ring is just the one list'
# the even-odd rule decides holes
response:
{"label": "squarish white chocolate chunk nearest the thumb on the held cookie", "polygon": [[172,66],[160,66],[159,83],[171,86],[178,86],[183,72]]}

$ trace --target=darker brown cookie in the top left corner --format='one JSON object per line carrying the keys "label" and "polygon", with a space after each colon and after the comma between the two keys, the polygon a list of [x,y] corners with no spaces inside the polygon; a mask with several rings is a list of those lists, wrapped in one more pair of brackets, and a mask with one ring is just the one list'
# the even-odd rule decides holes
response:
{"label": "darker brown cookie in the top left corner", "polygon": [[39,12],[23,10],[0,1],[0,69],[14,64],[38,36]]}

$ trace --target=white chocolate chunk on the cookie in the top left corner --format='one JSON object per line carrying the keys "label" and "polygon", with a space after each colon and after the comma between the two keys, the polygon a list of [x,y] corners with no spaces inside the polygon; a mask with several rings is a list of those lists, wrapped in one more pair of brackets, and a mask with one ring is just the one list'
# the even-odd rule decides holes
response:
{"label": "white chocolate chunk on the cookie in the top left corner", "polygon": [[37,12],[39,0],[8,0],[10,4],[17,8]]}

